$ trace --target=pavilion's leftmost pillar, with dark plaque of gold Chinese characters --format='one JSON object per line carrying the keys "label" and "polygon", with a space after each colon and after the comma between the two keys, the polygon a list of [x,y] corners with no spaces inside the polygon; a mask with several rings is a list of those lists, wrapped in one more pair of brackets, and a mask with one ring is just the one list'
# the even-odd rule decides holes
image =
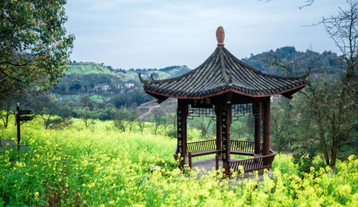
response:
{"label": "pavilion's leftmost pillar, with dark plaque of gold Chinese characters", "polygon": [[185,164],[185,154],[186,154],[186,142],[187,142],[187,133],[186,133],[186,123],[188,116],[188,104],[183,99],[178,99],[178,109],[177,109],[177,145],[178,145],[178,154],[180,153],[180,163],[179,167],[183,168]]}

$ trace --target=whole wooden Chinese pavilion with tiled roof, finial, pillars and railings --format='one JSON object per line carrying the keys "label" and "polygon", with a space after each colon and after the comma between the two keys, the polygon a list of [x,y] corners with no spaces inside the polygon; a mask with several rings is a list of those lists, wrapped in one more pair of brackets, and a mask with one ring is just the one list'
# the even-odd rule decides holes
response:
{"label": "whole wooden Chinese pavilion with tiled roof, finial, pillars and railings", "polygon": [[[177,147],[174,157],[180,158],[180,166],[192,157],[216,154],[225,173],[230,168],[245,172],[271,168],[275,152],[270,148],[270,96],[281,94],[289,99],[306,86],[306,76],[278,76],[261,72],[236,58],[224,47],[224,29],[216,31],[218,40],[215,51],[197,68],[178,77],[145,80],[144,90],[158,103],[168,97],[178,99]],[[187,119],[200,114],[216,120],[216,139],[187,142]],[[230,125],[233,119],[250,114],[255,117],[254,141],[233,139]],[[261,142],[261,119],[263,142]],[[251,155],[249,159],[230,159],[230,154]]]}

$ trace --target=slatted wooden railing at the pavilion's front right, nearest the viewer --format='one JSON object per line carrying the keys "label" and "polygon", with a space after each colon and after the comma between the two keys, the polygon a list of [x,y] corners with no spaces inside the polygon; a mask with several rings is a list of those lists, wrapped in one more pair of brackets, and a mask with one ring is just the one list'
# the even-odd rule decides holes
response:
{"label": "slatted wooden railing at the pavilion's front right, nearest the viewer", "polygon": [[237,161],[229,161],[230,168],[234,171],[238,171],[240,173],[239,166],[243,166],[245,172],[251,172],[255,170],[261,170],[265,168],[271,168],[272,162],[275,158],[276,153],[270,149],[270,154],[249,158],[249,159],[242,159]]}

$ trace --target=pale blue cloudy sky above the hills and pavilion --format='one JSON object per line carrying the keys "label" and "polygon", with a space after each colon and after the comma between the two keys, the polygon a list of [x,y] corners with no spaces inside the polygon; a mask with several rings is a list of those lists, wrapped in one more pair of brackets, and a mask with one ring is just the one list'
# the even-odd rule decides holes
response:
{"label": "pale blue cloudy sky above the hills and pavilion", "polygon": [[67,0],[65,27],[75,34],[71,59],[113,68],[195,68],[216,48],[222,25],[225,47],[238,58],[282,46],[339,52],[323,16],[345,0]]}

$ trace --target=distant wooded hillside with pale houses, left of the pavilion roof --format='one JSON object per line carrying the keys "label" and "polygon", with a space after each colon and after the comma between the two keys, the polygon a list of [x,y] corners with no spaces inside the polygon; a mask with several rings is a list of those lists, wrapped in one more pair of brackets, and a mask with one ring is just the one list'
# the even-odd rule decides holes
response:
{"label": "distant wooded hillside with pale houses, left of the pavilion roof", "polygon": [[89,95],[95,102],[112,101],[117,107],[139,105],[152,100],[142,89],[138,73],[144,78],[164,79],[184,74],[191,69],[186,65],[164,68],[114,69],[95,62],[73,62],[59,79],[51,93],[64,101],[76,102],[80,96]]}

